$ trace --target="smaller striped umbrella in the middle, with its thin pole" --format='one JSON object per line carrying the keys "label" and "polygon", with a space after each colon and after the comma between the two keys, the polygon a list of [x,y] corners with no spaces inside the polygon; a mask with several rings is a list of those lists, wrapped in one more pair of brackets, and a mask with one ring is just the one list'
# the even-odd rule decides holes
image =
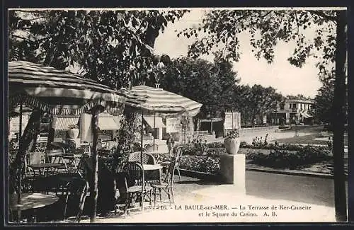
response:
{"label": "smaller striped umbrella in the middle, with its thin pole", "polygon": [[[194,117],[199,113],[202,107],[202,104],[195,100],[159,88],[158,84],[156,84],[155,88],[149,86],[133,86],[131,89],[122,88],[119,91],[126,98],[125,105],[142,110],[142,120],[144,118],[144,111],[149,113],[153,112],[154,116],[158,113],[159,115],[167,116],[185,114]],[[141,142],[143,142],[142,137]],[[155,137],[153,142],[155,148]],[[143,147],[143,143],[141,144]]]}

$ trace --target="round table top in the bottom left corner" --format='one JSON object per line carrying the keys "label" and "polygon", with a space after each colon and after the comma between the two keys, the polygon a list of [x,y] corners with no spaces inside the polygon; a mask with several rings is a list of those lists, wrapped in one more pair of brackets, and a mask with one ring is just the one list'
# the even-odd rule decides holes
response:
{"label": "round table top in the bottom left corner", "polygon": [[21,205],[17,204],[17,194],[13,194],[9,200],[10,209],[25,210],[25,209],[38,209],[47,205],[52,205],[59,200],[59,197],[52,194],[43,193],[22,193]]}

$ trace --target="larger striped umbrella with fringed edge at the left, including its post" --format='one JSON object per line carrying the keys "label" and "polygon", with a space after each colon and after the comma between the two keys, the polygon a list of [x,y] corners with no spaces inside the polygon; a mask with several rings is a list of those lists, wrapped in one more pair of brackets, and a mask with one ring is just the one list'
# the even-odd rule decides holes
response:
{"label": "larger striped umbrella with fringed edge at the left, including its post", "polygon": [[[79,115],[91,112],[93,129],[93,197],[94,207],[91,222],[96,220],[97,174],[98,163],[96,145],[98,139],[98,113],[104,108],[108,113],[119,115],[124,109],[125,97],[108,86],[98,84],[91,79],[84,79],[77,74],[45,67],[31,62],[8,62],[8,103],[9,109],[18,104],[28,105],[45,113],[56,115]],[[39,118],[38,118],[39,119]],[[28,129],[30,130],[30,129]],[[26,132],[26,130],[25,130]],[[16,162],[21,166],[25,149],[28,148],[29,136],[23,133]],[[26,140],[26,142],[25,142]],[[21,176],[19,177],[21,188]],[[18,192],[21,201],[21,192]]]}

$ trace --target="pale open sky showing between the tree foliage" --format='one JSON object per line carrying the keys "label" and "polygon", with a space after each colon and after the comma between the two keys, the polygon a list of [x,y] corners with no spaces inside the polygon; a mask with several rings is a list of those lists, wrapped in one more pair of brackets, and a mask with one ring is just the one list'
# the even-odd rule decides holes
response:
{"label": "pale open sky showing between the tree foliage", "polygon": [[[154,52],[156,54],[169,54],[170,57],[183,57],[187,55],[188,45],[193,43],[193,38],[177,37],[177,33],[184,28],[192,28],[202,22],[203,11],[193,9],[174,24],[169,24],[164,33],[156,39]],[[279,43],[275,47],[275,60],[268,64],[264,59],[259,61],[251,52],[249,35],[239,37],[241,56],[239,62],[234,62],[234,70],[241,79],[240,84],[261,84],[272,86],[283,96],[302,94],[314,98],[317,89],[321,87],[316,60],[308,59],[302,68],[289,64],[287,58],[294,51],[294,44]],[[213,57],[202,57],[212,61]]]}

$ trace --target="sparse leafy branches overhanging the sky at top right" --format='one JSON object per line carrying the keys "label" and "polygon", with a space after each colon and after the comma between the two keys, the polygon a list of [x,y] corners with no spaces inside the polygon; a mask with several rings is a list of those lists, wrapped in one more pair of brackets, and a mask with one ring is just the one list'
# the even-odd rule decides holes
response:
{"label": "sparse leafy branches overhanging the sky at top right", "polygon": [[[209,54],[216,49],[221,50],[225,58],[238,61],[237,35],[249,33],[252,52],[257,59],[263,57],[272,63],[275,45],[280,41],[294,41],[297,47],[288,59],[290,64],[302,67],[307,57],[313,54],[322,57],[320,64],[325,66],[334,62],[335,16],[335,11],[215,10],[206,13],[199,28],[187,28],[180,34],[191,36],[198,31],[207,34],[190,45],[190,57]],[[308,38],[306,30],[314,31],[313,38]],[[316,50],[316,54],[312,50]]]}

